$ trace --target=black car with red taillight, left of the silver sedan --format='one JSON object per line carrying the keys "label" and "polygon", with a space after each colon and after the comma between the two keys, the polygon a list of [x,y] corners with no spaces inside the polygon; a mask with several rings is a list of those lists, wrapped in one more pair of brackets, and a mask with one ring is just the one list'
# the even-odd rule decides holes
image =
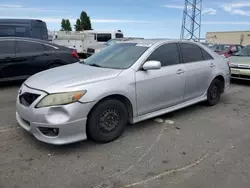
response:
{"label": "black car with red taillight, left of the silver sedan", "polygon": [[77,61],[76,50],[44,40],[0,38],[0,82],[26,79],[40,71]]}

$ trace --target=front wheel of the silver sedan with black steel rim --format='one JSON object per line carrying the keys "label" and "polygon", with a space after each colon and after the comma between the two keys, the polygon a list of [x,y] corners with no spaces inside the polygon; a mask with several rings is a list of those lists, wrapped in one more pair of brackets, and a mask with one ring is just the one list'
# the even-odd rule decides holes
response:
{"label": "front wheel of the silver sedan with black steel rim", "polygon": [[88,117],[87,133],[95,142],[111,142],[124,132],[128,123],[125,105],[115,99],[100,102]]}

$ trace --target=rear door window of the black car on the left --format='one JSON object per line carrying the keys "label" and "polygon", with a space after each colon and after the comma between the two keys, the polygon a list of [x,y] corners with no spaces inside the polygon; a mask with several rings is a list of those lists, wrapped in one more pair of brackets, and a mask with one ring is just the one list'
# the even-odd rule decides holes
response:
{"label": "rear door window of the black car on the left", "polygon": [[19,53],[43,52],[43,45],[36,42],[18,41]]}

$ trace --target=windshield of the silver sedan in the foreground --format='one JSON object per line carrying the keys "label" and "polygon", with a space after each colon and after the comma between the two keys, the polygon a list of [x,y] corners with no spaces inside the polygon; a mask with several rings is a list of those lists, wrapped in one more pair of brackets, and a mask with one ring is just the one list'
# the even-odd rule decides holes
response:
{"label": "windshield of the silver sedan in the foreground", "polygon": [[119,43],[105,48],[82,63],[103,68],[127,69],[147,49],[148,47],[137,46],[136,43]]}

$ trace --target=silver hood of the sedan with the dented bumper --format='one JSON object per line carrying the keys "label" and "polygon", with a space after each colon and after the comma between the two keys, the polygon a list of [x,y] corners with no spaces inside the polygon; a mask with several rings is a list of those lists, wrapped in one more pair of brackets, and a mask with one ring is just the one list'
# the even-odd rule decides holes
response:
{"label": "silver hood of the sedan with the dented bumper", "polygon": [[122,70],[74,63],[40,72],[25,81],[28,87],[48,93],[81,90],[82,86],[117,77]]}

